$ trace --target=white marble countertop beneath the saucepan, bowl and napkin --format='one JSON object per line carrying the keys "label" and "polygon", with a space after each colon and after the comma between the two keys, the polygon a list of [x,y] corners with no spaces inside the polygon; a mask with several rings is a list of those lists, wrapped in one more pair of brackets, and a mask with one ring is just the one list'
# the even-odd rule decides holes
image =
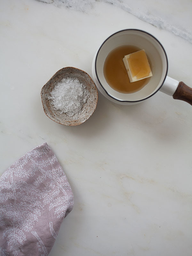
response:
{"label": "white marble countertop beneath the saucepan, bowl and napkin", "polygon": [[68,127],[40,97],[60,68],[91,75],[99,45],[125,28],[156,36],[168,75],[192,86],[191,10],[190,0],[1,1],[0,172],[46,141],[75,196],[50,256],[191,256],[192,107],[162,92],[134,106],[99,94],[91,118]]}

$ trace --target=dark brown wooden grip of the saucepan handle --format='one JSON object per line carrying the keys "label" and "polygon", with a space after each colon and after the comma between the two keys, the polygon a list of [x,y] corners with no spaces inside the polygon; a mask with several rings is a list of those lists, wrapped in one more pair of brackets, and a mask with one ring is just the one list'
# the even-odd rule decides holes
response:
{"label": "dark brown wooden grip of the saucepan handle", "polygon": [[192,88],[188,87],[183,82],[180,82],[173,94],[173,99],[184,100],[192,105]]}

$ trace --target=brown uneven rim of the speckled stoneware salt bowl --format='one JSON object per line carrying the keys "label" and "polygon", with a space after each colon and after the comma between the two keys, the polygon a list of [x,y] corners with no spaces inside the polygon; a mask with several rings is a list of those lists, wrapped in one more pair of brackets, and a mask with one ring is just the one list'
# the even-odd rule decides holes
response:
{"label": "brown uneven rim of the speckled stoneware salt bowl", "polygon": [[[87,72],[85,72],[84,70],[82,70],[82,69],[80,69],[80,68],[75,68],[75,67],[64,67],[64,68],[60,68],[57,72],[55,72],[54,73],[54,75],[52,75],[52,77],[44,84],[44,86],[41,88],[41,102],[42,102],[42,105],[43,105],[43,110],[44,110],[44,113],[45,113],[45,115],[46,116],[48,116],[47,115],[47,113],[46,113],[46,111],[45,111],[45,108],[44,108],[44,103],[43,103],[43,89],[44,89],[44,87],[46,87],[46,85],[47,85],[47,83],[59,72],[59,71],[61,71],[61,70],[64,70],[64,69],[66,69],[66,68],[72,68],[72,69],[76,69],[76,70],[80,70],[80,71],[82,71],[83,73],[85,73],[85,74],[87,74],[88,75],[88,77],[91,79],[91,81],[92,81],[92,83],[93,83],[93,85],[94,85],[94,87],[95,87],[95,89],[96,89],[96,105],[95,105],[95,108],[93,109],[93,112],[92,112],[92,114],[94,113],[94,111],[95,111],[95,109],[96,109],[96,107],[97,107],[97,103],[98,103],[98,89],[97,89],[97,86],[95,85],[95,82],[93,81],[93,79],[92,79],[92,77],[87,73]],[[92,114],[91,114],[91,116],[92,116]],[[83,124],[85,121],[87,121],[91,116],[89,116],[87,119],[85,119],[82,123],[80,123],[80,124]],[[56,120],[54,120],[51,116],[48,116],[52,121],[54,121],[55,123],[58,123],[58,124],[61,124],[59,121],[56,121]],[[66,125],[66,126],[77,126],[77,125],[80,125],[80,124],[62,124],[62,125]]]}

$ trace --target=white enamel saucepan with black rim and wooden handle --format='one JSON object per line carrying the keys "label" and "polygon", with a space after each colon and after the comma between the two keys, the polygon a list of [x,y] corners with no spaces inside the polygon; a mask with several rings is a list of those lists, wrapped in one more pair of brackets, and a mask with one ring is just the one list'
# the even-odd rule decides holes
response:
{"label": "white enamel saucepan with black rim and wooden handle", "polygon": [[[145,52],[150,60],[153,76],[140,91],[120,93],[112,89],[105,80],[103,66],[109,52],[123,45],[133,45]],[[125,29],[109,36],[95,53],[92,76],[99,91],[109,100],[122,105],[132,105],[147,100],[159,90],[192,105],[192,88],[167,76],[168,61],[162,44],[149,33],[138,29]]]}

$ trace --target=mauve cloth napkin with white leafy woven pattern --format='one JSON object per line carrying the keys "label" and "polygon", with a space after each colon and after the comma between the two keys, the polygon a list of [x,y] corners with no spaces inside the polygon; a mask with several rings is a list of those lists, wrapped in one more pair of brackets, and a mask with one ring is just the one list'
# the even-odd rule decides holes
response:
{"label": "mauve cloth napkin with white leafy woven pattern", "polygon": [[67,177],[47,143],[29,151],[0,178],[0,255],[48,255],[73,204]]}

